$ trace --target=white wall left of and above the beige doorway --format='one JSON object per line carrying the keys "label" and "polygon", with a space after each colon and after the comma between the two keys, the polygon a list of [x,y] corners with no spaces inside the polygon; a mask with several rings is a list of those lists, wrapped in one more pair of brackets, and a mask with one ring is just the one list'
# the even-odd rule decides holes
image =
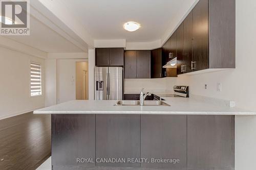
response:
{"label": "white wall left of and above the beige doorway", "polygon": [[[58,59],[57,60],[57,103],[76,99],[75,63],[87,59]],[[90,75],[90,70],[88,71]],[[90,83],[90,80],[89,80]]]}

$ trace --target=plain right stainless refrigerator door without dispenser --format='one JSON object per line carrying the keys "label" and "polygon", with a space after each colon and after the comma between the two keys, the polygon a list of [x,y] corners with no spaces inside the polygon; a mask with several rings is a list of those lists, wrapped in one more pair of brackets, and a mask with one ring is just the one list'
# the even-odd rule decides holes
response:
{"label": "plain right stainless refrigerator door without dispenser", "polygon": [[122,100],[123,94],[123,68],[109,67],[109,98],[108,100]]}

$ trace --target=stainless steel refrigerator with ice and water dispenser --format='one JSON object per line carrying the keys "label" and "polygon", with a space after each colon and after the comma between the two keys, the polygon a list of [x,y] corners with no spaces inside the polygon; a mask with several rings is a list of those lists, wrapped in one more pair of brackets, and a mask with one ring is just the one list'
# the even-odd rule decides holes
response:
{"label": "stainless steel refrigerator with ice and water dispenser", "polygon": [[122,100],[123,68],[95,67],[95,100]]}

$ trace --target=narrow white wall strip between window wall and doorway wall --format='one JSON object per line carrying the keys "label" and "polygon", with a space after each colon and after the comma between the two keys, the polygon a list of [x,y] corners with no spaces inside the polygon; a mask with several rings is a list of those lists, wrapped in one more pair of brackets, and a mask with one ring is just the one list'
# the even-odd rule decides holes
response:
{"label": "narrow white wall strip between window wall and doorway wall", "polygon": [[46,59],[45,64],[45,106],[47,107],[57,104],[57,61],[56,59]]}

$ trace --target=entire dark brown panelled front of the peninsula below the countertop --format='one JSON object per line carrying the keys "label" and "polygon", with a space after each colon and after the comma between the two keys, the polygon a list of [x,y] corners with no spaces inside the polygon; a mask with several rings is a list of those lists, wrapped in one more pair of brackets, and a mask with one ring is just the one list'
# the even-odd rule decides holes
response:
{"label": "entire dark brown panelled front of the peninsula below the countertop", "polygon": [[52,114],[52,169],[234,170],[234,116]]}

